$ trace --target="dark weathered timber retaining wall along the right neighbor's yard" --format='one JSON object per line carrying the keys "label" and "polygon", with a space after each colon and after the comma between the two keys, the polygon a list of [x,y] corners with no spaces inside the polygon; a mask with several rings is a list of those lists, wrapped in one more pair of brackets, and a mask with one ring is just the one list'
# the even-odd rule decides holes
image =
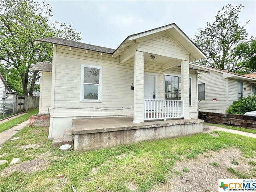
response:
{"label": "dark weathered timber retaining wall along the right neighbor's yard", "polygon": [[256,130],[256,117],[211,112],[199,112],[199,119],[207,123],[218,123]]}

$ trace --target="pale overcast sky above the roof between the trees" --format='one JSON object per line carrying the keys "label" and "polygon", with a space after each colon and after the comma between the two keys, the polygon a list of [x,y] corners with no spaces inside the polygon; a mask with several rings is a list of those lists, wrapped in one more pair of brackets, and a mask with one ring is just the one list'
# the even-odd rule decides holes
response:
{"label": "pale overcast sky above the roof between the trees", "polygon": [[170,23],[193,38],[206,22],[213,22],[223,6],[243,4],[240,24],[256,36],[256,1],[60,1],[48,0],[52,20],[82,32],[80,42],[116,49],[131,34]]}

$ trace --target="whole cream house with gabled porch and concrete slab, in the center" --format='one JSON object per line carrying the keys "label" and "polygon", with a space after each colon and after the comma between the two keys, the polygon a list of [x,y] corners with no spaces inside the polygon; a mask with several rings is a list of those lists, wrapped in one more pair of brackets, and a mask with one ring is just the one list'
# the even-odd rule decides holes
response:
{"label": "whole cream house with gabled porch and concrete slab, in the center", "polygon": [[75,150],[87,150],[202,131],[197,73],[207,70],[189,62],[206,56],[176,24],[130,35],[116,49],[35,39],[42,42],[53,44],[52,64],[33,69],[49,138],[71,129]]}

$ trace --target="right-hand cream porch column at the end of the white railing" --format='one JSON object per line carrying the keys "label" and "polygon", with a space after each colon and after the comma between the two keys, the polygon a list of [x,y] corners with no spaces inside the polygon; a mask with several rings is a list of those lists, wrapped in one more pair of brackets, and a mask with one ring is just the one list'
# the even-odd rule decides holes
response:
{"label": "right-hand cream porch column at the end of the white railing", "polygon": [[181,62],[181,99],[184,100],[184,119],[189,117],[189,64],[188,61]]}

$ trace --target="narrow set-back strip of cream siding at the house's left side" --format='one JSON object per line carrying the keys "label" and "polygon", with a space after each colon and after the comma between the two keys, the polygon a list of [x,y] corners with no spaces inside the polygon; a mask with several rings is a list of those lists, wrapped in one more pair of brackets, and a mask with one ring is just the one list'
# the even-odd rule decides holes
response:
{"label": "narrow set-back strip of cream siding at the house's left side", "polygon": [[52,73],[41,72],[39,114],[47,114],[51,106]]}

